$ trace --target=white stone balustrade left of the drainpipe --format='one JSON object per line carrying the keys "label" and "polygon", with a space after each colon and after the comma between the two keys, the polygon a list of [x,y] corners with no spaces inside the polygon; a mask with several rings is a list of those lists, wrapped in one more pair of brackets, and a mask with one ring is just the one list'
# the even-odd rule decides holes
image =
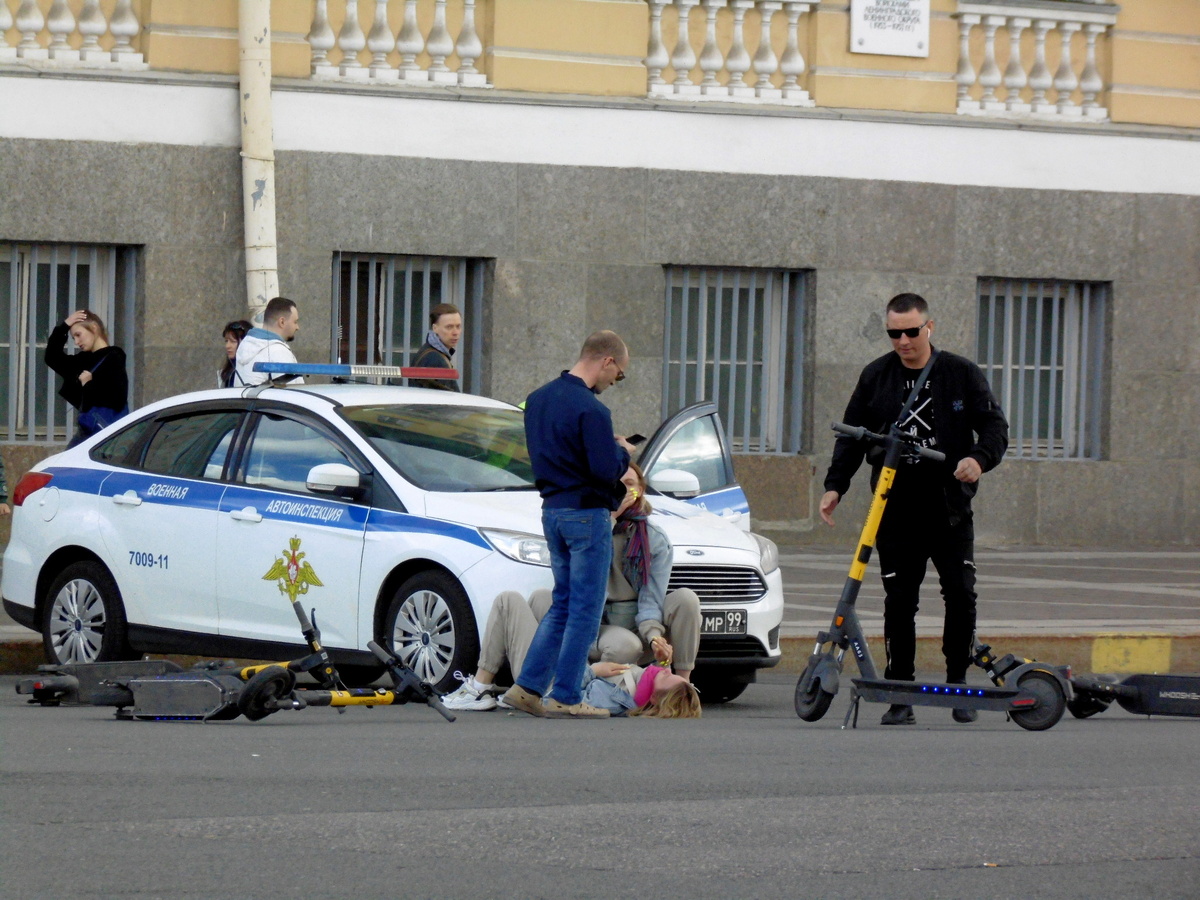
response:
{"label": "white stone balustrade left of the drainpipe", "polygon": [[[116,0],[106,17],[100,0],[53,0],[43,13],[37,0],[0,0],[0,62],[46,66],[145,68],[134,46],[142,25],[133,0]],[[6,38],[20,34],[16,47]]]}

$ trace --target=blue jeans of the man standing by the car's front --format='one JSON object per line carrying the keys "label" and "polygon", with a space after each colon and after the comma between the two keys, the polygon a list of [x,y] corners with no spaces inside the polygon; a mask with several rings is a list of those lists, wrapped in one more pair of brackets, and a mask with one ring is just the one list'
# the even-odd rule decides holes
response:
{"label": "blue jeans of the man standing by the car's front", "polygon": [[612,564],[612,518],[606,509],[544,509],[554,593],[538,623],[517,684],[574,706],[583,694],[588,648],[596,640]]}

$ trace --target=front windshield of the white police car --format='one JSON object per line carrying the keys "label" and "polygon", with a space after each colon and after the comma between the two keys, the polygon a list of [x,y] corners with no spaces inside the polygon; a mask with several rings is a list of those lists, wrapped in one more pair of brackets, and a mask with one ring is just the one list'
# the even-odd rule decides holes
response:
{"label": "front windshield of the white police car", "polygon": [[406,480],[425,491],[532,491],[517,409],[461,406],[348,407],[346,419]]}

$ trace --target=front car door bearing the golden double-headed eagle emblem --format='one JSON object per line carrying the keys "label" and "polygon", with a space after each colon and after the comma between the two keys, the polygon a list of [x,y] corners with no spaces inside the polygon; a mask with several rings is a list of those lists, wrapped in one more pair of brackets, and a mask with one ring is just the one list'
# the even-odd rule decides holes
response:
{"label": "front car door bearing the golden double-headed eagle emblem", "polygon": [[313,466],[342,463],[365,473],[361,456],[328,424],[302,410],[253,414],[233,484],[217,517],[221,634],[301,643],[292,608],[317,611],[322,642],[358,648],[359,570],[370,512],[365,491],[308,490]]}

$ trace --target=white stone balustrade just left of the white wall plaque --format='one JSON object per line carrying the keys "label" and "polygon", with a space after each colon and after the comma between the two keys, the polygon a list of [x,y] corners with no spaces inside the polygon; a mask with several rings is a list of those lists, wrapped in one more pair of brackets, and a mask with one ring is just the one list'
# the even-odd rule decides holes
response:
{"label": "white stone balustrade just left of the white wall plaque", "polygon": [[[647,0],[650,40],[646,53],[647,95],[664,100],[724,100],[812,106],[800,86],[800,18],[814,2],[787,0]],[[696,10],[700,12],[695,12]],[[670,19],[664,23],[664,13]],[[692,16],[703,17],[702,40]],[[664,31],[674,28],[673,49]],[[778,28],[776,28],[778,25]],[[757,32],[757,37],[755,37]],[[754,55],[748,48],[754,47]],[[672,70],[667,80],[664,72]],[[752,80],[748,82],[746,76]]]}

